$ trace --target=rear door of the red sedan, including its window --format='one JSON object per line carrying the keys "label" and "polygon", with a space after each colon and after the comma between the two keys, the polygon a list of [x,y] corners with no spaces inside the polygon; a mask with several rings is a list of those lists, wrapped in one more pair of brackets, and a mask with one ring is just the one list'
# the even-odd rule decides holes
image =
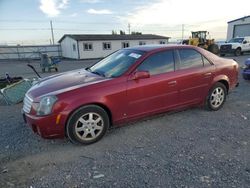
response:
{"label": "rear door of the red sedan, including its window", "polygon": [[179,49],[179,68],[176,73],[183,105],[201,102],[208,94],[214,65],[194,49]]}

